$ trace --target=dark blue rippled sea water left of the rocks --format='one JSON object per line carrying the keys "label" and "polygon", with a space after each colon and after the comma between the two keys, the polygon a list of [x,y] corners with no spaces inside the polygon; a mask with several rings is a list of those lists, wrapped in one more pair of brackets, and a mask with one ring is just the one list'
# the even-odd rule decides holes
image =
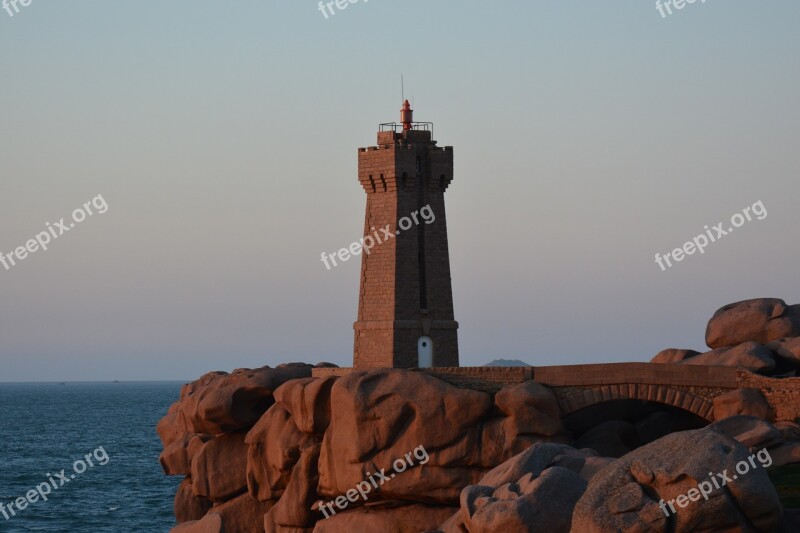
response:
{"label": "dark blue rippled sea water left of the rocks", "polygon": [[[180,478],[161,470],[155,427],[181,385],[0,383],[0,532],[169,531]],[[37,486],[48,500],[12,516]]]}

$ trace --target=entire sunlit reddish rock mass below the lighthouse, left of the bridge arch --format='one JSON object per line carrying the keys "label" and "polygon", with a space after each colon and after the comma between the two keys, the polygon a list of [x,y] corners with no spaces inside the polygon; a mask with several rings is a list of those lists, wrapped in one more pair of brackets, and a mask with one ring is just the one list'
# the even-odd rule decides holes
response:
{"label": "entire sunlit reddish rock mass below the lighthouse, left of the bridge arch", "polygon": [[[309,378],[308,365],[285,368],[280,376],[301,376],[275,387],[274,369],[265,368],[184,387],[159,424],[165,472],[187,476],[176,498],[180,521],[213,527],[213,513],[226,533],[435,528],[466,485],[532,444],[569,440],[553,392],[533,381],[492,395],[421,372]],[[198,420],[200,412],[212,421]],[[562,460],[582,468],[590,455]],[[586,472],[599,466],[590,461]]]}

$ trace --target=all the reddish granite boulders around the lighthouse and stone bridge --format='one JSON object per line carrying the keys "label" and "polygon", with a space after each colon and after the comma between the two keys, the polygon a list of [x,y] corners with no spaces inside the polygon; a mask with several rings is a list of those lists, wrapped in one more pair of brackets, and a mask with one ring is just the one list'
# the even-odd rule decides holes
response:
{"label": "all the reddish granite boulders around the lighthouse and stone bridge", "polygon": [[[725,306],[706,338],[706,353],[670,349],[653,362],[800,370],[800,306]],[[486,392],[425,372],[313,368],[213,372],[183,387],[158,425],[165,473],[184,476],[173,531],[796,531],[800,521],[767,476],[800,463],[800,425],[758,388],[716,396],[703,429],[677,431],[674,413],[656,410],[590,418],[573,435],[535,381]],[[769,466],[754,463],[767,455]],[[747,474],[694,499],[742,461]]]}

